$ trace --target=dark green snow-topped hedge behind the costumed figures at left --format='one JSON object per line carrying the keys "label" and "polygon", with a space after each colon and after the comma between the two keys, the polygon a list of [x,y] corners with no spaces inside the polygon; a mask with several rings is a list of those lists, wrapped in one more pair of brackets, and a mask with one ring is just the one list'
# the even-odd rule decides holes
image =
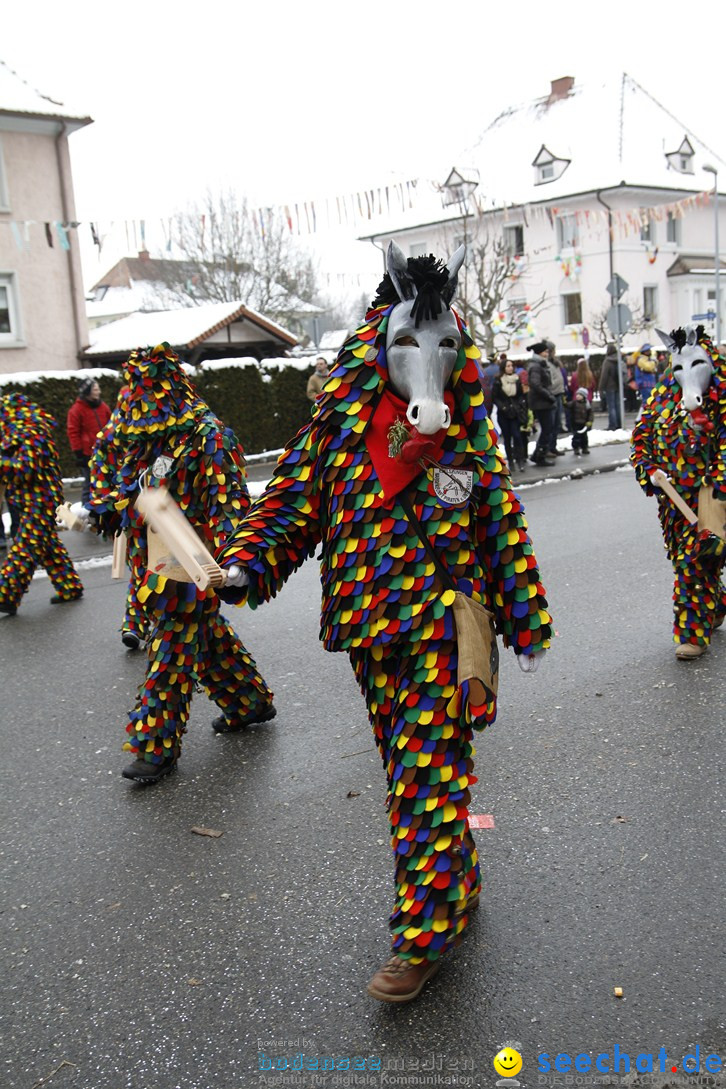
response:
{"label": "dark green snow-topped hedge behind the costumed figures at left", "polygon": [[[284,446],[309,420],[311,405],[305,390],[313,367],[315,359],[305,369],[286,360],[207,368],[202,364],[190,378],[212,412],[235,432],[245,452],[258,454]],[[22,374],[0,375],[0,394],[24,393],[58,421],[56,441],[66,477],[77,476],[78,468],[69,445],[65,419],[78,395],[78,383],[86,377],[98,381],[101,396],[113,407],[121,375],[106,368],[34,371],[28,378]]]}

